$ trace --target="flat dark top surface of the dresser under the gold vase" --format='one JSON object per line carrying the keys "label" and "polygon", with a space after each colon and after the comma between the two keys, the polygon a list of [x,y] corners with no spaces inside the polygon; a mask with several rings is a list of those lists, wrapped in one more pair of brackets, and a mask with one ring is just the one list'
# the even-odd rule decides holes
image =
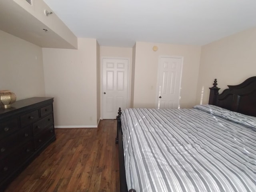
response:
{"label": "flat dark top surface of the dresser under the gold vase", "polygon": [[7,108],[7,109],[0,108],[0,114],[12,112],[27,106],[38,104],[40,102],[49,102],[49,103],[53,102],[53,97],[32,97],[28,99],[18,100],[15,103],[11,104],[10,108]]}

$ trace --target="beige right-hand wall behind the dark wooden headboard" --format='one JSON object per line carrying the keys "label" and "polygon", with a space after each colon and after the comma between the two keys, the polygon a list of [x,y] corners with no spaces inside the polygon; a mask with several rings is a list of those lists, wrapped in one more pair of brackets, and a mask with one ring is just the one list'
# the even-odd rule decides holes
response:
{"label": "beige right-hand wall behind the dark wooden headboard", "polygon": [[214,78],[218,80],[220,92],[227,85],[240,84],[256,76],[256,28],[246,30],[202,46],[198,78],[197,104],[204,94],[202,103],[209,100],[209,87]]}

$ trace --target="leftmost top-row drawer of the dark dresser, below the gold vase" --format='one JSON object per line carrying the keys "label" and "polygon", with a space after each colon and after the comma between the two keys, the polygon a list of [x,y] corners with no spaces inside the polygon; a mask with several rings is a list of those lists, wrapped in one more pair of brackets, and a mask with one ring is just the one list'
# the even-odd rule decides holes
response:
{"label": "leftmost top-row drawer of the dark dresser, below the gold vase", "polygon": [[9,134],[17,131],[18,129],[19,129],[18,118],[0,122],[0,139],[8,136]]}

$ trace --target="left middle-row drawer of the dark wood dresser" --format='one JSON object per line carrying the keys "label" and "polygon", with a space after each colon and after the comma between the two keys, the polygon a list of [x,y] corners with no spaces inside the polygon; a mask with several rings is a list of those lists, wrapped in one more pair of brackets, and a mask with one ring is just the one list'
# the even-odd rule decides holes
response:
{"label": "left middle-row drawer of the dark wood dresser", "polygon": [[17,146],[21,146],[24,142],[32,138],[30,127],[26,127],[19,132],[0,140],[0,159],[10,154]]}

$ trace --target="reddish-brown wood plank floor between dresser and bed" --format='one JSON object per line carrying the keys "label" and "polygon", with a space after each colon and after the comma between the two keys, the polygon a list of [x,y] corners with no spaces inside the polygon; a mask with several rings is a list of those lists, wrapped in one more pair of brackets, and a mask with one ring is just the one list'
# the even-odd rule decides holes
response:
{"label": "reddish-brown wood plank floor between dresser and bed", "polygon": [[118,192],[116,120],[98,129],[56,129],[50,144],[5,192]]}

